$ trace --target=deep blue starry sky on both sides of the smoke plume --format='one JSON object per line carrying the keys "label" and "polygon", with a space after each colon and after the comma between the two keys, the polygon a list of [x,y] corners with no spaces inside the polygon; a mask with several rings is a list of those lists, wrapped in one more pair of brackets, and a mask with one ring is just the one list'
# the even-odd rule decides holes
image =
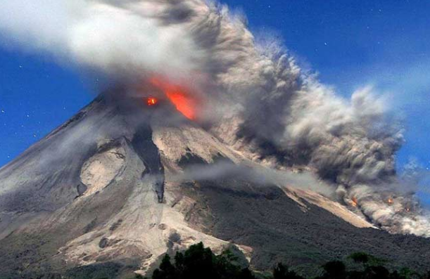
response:
{"label": "deep blue starry sky on both sides of the smoke plume", "polygon": [[[253,32],[284,41],[301,65],[348,98],[373,84],[405,120],[399,165],[430,167],[430,1],[224,0]],[[1,45],[1,44],[0,44]],[[94,98],[76,70],[0,48],[0,166]]]}

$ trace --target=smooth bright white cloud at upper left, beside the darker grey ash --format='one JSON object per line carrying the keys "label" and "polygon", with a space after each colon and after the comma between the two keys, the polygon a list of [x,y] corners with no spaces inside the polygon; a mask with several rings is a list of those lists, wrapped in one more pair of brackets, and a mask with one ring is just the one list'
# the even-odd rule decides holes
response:
{"label": "smooth bright white cloud at upper left, beside the darker grey ash", "polygon": [[60,63],[118,81],[148,72],[177,77],[196,70],[203,53],[181,27],[160,22],[164,6],[155,1],[4,1],[0,30],[8,45],[43,51]]}

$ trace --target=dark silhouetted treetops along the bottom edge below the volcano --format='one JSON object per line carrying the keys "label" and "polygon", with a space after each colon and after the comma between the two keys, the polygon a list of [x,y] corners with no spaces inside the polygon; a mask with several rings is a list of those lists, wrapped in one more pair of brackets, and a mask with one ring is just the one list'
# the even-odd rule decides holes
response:
{"label": "dark silhouetted treetops along the bottom edge below the volcano", "polygon": [[[350,270],[342,261],[329,261],[315,279],[430,279],[430,273],[422,275],[405,268],[388,271],[384,261],[365,253],[355,253],[349,258],[358,268]],[[306,279],[283,264],[278,264],[272,274],[260,274],[241,268],[237,260],[228,250],[215,255],[199,243],[177,252],[174,259],[166,254],[151,279]],[[137,278],[144,279],[141,275]]]}

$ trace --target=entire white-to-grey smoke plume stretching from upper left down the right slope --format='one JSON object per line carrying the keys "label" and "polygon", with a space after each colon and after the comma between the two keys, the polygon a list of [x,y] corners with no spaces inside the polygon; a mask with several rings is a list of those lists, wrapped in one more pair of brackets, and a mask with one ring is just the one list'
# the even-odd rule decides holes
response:
{"label": "entire white-to-grey smoke plume stretching from upper left down the right slope", "polygon": [[[396,233],[430,236],[398,179],[400,125],[372,88],[335,95],[241,14],[203,0],[40,0],[0,4],[6,44],[44,51],[139,88],[153,77],[189,89],[198,119],[273,168],[308,167],[339,199]],[[149,82],[150,83],[150,82]]]}

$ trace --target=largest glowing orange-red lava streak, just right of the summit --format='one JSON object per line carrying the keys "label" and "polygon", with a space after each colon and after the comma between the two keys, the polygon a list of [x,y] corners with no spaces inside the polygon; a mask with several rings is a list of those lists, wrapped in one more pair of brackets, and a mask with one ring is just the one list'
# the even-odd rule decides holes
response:
{"label": "largest glowing orange-red lava streak, just right of the summit", "polygon": [[183,86],[170,84],[157,77],[151,78],[150,82],[165,93],[165,96],[167,96],[182,115],[191,120],[196,119],[196,100],[187,93],[187,90]]}

